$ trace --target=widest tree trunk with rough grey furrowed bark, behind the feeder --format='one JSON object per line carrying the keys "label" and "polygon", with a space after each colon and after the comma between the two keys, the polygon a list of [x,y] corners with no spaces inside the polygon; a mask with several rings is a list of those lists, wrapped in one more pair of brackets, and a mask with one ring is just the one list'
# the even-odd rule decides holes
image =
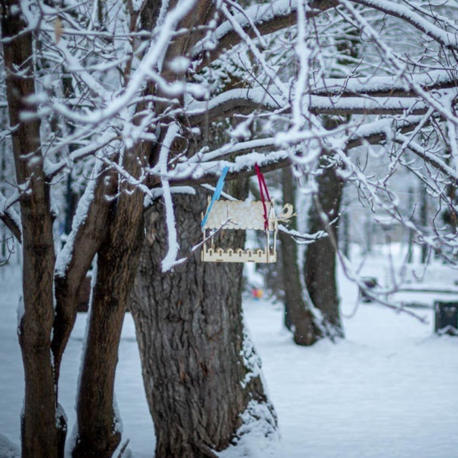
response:
{"label": "widest tree trunk with rough grey furrowed bark, behind the feeder", "polygon": [[[202,239],[205,196],[174,198],[181,255]],[[204,263],[195,252],[162,273],[167,250],[162,203],[153,209],[131,311],[143,380],[156,431],[156,458],[215,456],[234,440],[241,414],[257,408],[265,431],[276,416],[260,378],[260,362],[244,333],[242,264]],[[156,213],[154,215],[154,212]],[[153,241],[154,238],[154,241]],[[244,234],[226,231],[224,244],[240,246]]]}

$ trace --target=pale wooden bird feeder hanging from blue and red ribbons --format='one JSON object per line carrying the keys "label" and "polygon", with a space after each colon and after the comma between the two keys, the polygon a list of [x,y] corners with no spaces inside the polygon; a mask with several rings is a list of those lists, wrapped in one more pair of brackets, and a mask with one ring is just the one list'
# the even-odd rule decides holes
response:
{"label": "pale wooden bird feeder hanging from blue and red ribbons", "polygon": [[[271,263],[277,261],[278,221],[283,221],[293,216],[293,206],[286,204],[280,218],[277,218],[273,199],[267,202],[216,201],[213,202],[211,209],[209,200],[207,213],[207,219],[202,224],[202,261]],[[202,214],[203,221],[204,216]],[[225,250],[214,244],[211,231],[214,233],[217,229],[262,230],[266,234],[266,244],[263,248],[258,249],[229,248]],[[210,231],[210,233],[207,231]],[[271,233],[273,233],[273,237],[271,237]]]}

